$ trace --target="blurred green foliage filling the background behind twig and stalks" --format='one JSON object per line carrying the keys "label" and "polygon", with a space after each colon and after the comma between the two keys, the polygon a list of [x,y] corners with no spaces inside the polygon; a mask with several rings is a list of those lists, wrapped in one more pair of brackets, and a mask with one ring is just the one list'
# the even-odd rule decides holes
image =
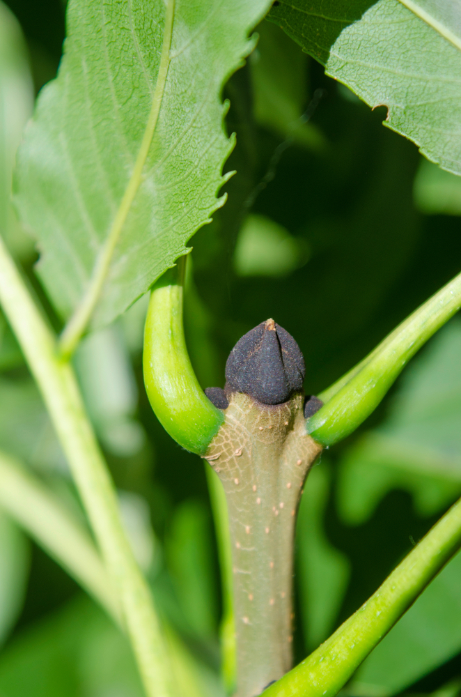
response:
{"label": "blurred green foliage filling the background behind twig and stalks", "polygon": [[[9,5],[39,89],[56,70],[63,7],[57,0]],[[20,36],[3,6],[0,21]],[[222,386],[233,344],[273,316],[302,348],[306,392],[315,394],[458,272],[460,182],[384,129],[383,109],[370,112],[325,77],[279,27],[263,22],[258,32],[257,51],[225,90],[227,128],[237,132],[227,169],[237,174],[226,185],[226,206],[194,238],[187,341],[203,387]],[[22,72],[17,79],[24,88],[29,78]],[[3,122],[1,129],[2,143],[13,137]],[[10,160],[0,166],[10,176]],[[31,245],[12,247],[44,298]],[[141,300],[86,339],[75,363],[136,556],[180,637],[178,671],[192,666],[201,694],[216,696],[222,599],[205,473],[148,404],[145,312]],[[50,321],[58,323],[51,311]],[[364,602],[460,495],[460,355],[455,318],[359,432],[308,478],[297,527],[298,660]],[[40,396],[1,316],[0,370],[0,448],[35,468],[81,515]],[[345,694],[458,694],[460,565],[458,557],[444,569]],[[3,517],[0,608],[2,697],[140,694],[120,632],[35,544],[29,563],[24,535]]]}

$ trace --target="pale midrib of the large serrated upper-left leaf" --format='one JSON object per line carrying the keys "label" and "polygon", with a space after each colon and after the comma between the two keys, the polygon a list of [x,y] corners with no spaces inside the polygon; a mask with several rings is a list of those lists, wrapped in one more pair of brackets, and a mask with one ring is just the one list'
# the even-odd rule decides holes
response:
{"label": "pale midrib of the large serrated upper-left leaf", "polygon": [[133,171],[125,188],[122,200],[118,206],[118,210],[111,224],[107,239],[102,245],[100,253],[97,256],[93,274],[88,284],[84,297],[82,298],[75,313],[70,318],[70,321],[65,326],[61,335],[60,351],[64,356],[71,355],[75,350],[81,335],[83,334],[88,321],[91,319],[93,310],[102,291],[104,280],[109,272],[111,259],[114,256],[114,251],[120,238],[120,233],[123,230],[123,225],[130,212],[130,208],[134,201],[139,186],[142,181],[142,173],[146,159],[152,144],[155,127],[157,125],[162,98],[166,85],[166,77],[168,75],[169,65],[171,63],[171,36],[173,33],[173,19],[175,10],[175,0],[168,0],[165,15],[165,28],[162,44],[162,54],[160,57],[159,72],[157,74],[157,82],[153,93],[152,106],[150,114],[144,130],[143,139],[139,148],[136,162],[134,163]]}

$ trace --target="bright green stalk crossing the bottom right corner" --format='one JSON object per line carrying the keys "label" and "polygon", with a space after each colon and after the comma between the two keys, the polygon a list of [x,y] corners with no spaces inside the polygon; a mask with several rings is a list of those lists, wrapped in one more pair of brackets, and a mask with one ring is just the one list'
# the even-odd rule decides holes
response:
{"label": "bright green stalk crossing the bottom right corner", "polygon": [[461,546],[461,500],[335,633],[264,697],[334,697]]}

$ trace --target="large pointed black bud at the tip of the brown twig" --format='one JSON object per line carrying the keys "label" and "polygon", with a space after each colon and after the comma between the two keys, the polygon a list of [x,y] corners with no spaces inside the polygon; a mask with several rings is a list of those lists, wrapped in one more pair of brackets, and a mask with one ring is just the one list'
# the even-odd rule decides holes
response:
{"label": "large pointed black bud at the tip of the brown twig", "polygon": [[268,319],[232,349],[226,363],[226,392],[244,392],[263,404],[282,404],[302,390],[305,374],[295,339]]}

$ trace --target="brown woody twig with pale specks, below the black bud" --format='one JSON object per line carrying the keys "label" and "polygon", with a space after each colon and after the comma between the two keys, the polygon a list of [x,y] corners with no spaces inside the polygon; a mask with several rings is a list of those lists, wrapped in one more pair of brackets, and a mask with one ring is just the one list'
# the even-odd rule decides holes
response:
{"label": "brown woody twig with pale specks, below the black bud", "polygon": [[322,447],[306,434],[304,397],[266,405],[233,392],[205,458],[224,485],[233,546],[236,697],[292,667],[292,574],[302,486]]}

